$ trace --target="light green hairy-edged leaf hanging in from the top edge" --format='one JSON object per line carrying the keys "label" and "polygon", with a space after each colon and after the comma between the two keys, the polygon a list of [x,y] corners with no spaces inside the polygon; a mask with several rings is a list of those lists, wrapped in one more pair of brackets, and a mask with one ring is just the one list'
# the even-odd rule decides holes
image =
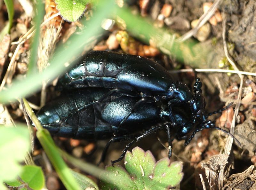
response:
{"label": "light green hairy-edged leaf hanging in from the top edge", "polygon": [[75,22],[85,12],[89,0],[55,0],[61,16],[70,22]]}

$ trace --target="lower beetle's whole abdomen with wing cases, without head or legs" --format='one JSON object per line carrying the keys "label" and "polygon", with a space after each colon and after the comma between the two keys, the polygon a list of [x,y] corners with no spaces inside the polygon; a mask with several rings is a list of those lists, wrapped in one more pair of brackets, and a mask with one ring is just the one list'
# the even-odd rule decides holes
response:
{"label": "lower beetle's whole abdomen with wing cases, without head or legs", "polygon": [[155,103],[142,102],[119,125],[140,98],[113,94],[92,104],[109,90],[78,89],[61,95],[38,111],[43,127],[52,135],[75,139],[108,139],[150,128],[160,120],[160,108]]}

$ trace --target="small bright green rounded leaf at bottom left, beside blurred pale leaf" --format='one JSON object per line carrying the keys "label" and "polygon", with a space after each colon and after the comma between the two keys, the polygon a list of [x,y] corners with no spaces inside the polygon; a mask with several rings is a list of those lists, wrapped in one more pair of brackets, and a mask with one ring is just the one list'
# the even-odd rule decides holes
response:
{"label": "small bright green rounded leaf at bottom left, beside blurred pale leaf", "polygon": [[39,166],[24,166],[20,178],[27,183],[31,189],[40,190],[44,187],[44,173]]}

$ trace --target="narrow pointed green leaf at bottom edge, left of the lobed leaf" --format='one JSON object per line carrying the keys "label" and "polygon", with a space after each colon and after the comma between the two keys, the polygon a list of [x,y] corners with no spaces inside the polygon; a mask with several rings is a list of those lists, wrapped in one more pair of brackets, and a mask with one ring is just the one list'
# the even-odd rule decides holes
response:
{"label": "narrow pointed green leaf at bottom edge, left of the lobed leaf", "polygon": [[82,188],[82,189],[96,189],[99,190],[99,187],[96,185],[96,183],[94,183],[94,181],[92,181],[92,179],[86,177],[83,174],[80,174],[78,172],[75,172],[73,170],[71,170],[72,175],[74,176],[74,178],[76,179],[76,182],[78,183],[78,185]]}

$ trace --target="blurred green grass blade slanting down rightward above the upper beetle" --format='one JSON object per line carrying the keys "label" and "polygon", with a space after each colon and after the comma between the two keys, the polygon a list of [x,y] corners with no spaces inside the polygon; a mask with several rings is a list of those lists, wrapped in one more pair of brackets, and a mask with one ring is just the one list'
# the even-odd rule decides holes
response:
{"label": "blurred green grass blade slanting down rightward above the upper beetle", "polygon": [[177,43],[175,42],[176,35],[169,30],[155,28],[153,23],[138,15],[133,15],[127,8],[118,8],[117,15],[125,22],[127,31],[146,44],[149,44],[149,39],[151,39],[159,50],[180,62],[192,67],[208,67],[209,53],[213,48],[211,45],[205,46],[194,39]]}

